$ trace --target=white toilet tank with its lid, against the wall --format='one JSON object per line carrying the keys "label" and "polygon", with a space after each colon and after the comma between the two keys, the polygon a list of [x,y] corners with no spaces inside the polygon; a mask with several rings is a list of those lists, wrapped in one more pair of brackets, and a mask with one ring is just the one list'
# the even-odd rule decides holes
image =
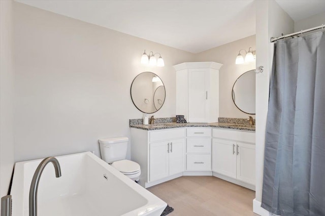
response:
{"label": "white toilet tank with its lid, against the wall", "polygon": [[101,157],[107,163],[126,158],[127,137],[100,139]]}

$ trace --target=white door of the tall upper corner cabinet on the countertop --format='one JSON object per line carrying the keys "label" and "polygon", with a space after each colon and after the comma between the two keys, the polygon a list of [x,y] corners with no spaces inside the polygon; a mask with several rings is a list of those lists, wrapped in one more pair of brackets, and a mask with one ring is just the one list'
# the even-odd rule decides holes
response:
{"label": "white door of the tall upper corner cabinet on the countertop", "polygon": [[188,70],[188,121],[207,121],[207,69]]}

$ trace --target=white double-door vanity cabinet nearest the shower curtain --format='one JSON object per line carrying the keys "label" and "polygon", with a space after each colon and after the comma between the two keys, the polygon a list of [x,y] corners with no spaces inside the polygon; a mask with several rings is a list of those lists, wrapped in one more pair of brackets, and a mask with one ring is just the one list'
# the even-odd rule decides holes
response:
{"label": "white double-door vanity cabinet nearest the shower curtain", "polygon": [[214,128],[212,134],[213,175],[254,190],[255,133]]}

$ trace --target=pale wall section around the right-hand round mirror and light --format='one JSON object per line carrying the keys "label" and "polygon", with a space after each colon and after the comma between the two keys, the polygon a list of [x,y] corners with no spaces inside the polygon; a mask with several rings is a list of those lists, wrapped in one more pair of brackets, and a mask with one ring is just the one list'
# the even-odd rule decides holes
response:
{"label": "pale wall section around the right-hand round mirror and light", "polygon": [[[255,35],[230,42],[197,54],[196,61],[213,61],[223,64],[219,70],[219,116],[232,118],[248,118],[249,115],[240,111],[232,99],[232,89],[236,79],[248,70],[255,69],[255,61],[236,65],[239,50],[252,47],[255,50]],[[245,52],[241,52],[243,55]],[[258,54],[257,54],[258,55]],[[255,115],[251,115],[255,118]]]}

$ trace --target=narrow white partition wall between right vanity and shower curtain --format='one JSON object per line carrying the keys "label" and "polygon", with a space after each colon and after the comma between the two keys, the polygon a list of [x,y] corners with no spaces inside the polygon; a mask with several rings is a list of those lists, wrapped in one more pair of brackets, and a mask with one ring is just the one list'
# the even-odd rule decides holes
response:
{"label": "narrow white partition wall between right vanity and shower curtain", "polygon": [[294,21],[275,1],[256,1],[256,66],[264,66],[264,72],[256,75],[256,198],[253,211],[269,215],[261,208],[265,126],[269,101],[269,83],[273,59],[270,37],[294,32]]}

